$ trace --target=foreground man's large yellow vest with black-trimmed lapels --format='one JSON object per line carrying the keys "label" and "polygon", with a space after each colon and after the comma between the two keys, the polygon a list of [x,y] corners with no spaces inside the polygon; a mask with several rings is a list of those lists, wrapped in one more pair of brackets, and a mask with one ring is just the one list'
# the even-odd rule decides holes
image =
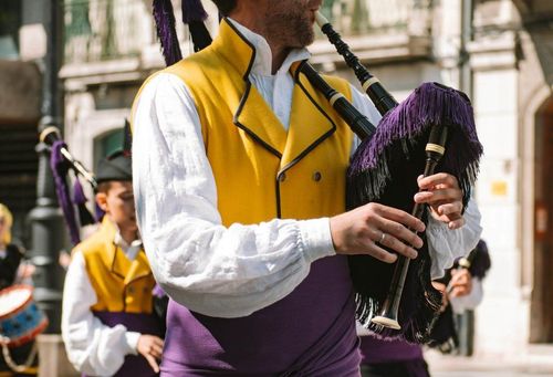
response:
{"label": "foreground man's large yellow vest with black-trimmed lapels", "polygon": [[[248,81],[254,49],[223,20],[204,51],[166,69],[190,90],[225,226],[309,219],[345,209],[349,128],[296,71],[289,132]],[[326,77],[351,97],[349,84]]]}

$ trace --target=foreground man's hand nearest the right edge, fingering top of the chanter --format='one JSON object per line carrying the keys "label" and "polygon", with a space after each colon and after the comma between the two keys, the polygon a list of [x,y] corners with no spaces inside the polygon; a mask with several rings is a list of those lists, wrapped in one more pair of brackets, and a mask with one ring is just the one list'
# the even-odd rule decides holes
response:
{"label": "foreground man's hand nearest the right edge, fingering top of the chanter", "polygon": [[447,172],[425,178],[420,176],[418,187],[425,191],[415,195],[415,202],[429,205],[435,219],[447,223],[449,229],[459,229],[465,224],[462,191],[456,177]]}

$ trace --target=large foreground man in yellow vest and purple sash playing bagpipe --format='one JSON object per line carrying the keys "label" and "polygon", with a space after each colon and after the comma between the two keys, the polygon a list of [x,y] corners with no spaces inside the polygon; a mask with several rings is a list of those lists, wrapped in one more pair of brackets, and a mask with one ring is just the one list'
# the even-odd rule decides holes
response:
{"label": "large foreground man in yellow vest and purple sash playing bagpipe", "polygon": [[[161,375],[357,376],[345,255],[415,258],[425,226],[378,203],[345,212],[353,134],[298,75],[321,1],[215,2],[212,44],[150,77],[133,112],[137,220],[171,299]],[[157,6],[165,33],[175,20]],[[439,274],[478,241],[479,213],[451,175],[418,184]]]}

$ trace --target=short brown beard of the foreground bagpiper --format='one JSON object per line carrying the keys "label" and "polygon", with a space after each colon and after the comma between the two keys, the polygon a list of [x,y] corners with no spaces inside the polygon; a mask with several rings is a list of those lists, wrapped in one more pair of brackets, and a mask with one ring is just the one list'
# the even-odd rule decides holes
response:
{"label": "short brown beard of the foreground bagpiper", "polygon": [[275,41],[286,48],[301,49],[313,43],[315,33],[313,21],[301,7],[293,9],[280,9],[281,1],[271,1],[272,4],[267,14],[267,31]]}

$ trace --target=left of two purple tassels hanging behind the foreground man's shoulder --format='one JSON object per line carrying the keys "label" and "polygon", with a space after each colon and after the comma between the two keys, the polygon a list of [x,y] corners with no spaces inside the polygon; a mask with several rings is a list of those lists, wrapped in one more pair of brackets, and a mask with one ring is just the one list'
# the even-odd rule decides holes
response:
{"label": "left of two purple tassels hanging behind the foreground man's shoulder", "polygon": [[167,65],[173,65],[182,59],[175,29],[175,13],[170,0],[154,0],[154,19],[157,36],[161,42],[161,50]]}

